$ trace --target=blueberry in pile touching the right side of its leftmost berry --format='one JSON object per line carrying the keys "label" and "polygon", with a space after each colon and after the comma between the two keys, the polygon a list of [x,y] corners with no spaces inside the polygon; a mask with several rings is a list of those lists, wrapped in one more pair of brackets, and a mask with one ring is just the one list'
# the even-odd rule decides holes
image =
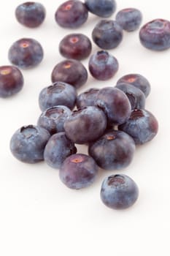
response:
{"label": "blueberry in pile touching the right side of its leftmost berry", "polygon": [[58,132],[48,140],[45,146],[44,158],[47,165],[58,169],[66,157],[77,153],[74,143],[66,138],[65,132]]}

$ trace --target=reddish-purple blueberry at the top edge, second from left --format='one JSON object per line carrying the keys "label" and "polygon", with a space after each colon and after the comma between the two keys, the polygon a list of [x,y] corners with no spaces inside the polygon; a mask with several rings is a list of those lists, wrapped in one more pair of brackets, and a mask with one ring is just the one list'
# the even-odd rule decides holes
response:
{"label": "reddish-purple blueberry at the top edge, second from left", "polygon": [[55,12],[55,20],[63,28],[77,29],[88,19],[88,10],[82,1],[65,1]]}

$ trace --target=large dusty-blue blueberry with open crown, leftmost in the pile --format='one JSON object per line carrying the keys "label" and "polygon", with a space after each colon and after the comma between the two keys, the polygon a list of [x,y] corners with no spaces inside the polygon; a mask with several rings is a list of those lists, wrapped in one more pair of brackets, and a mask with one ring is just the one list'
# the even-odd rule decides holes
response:
{"label": "large dusty-blue blueberry with open crown, leftmost in the pile", "polygon": [[10,140],[10,150],[21,162],[34,164],[44,160],[44,150],[50,133],[34,125],[18,129]]}

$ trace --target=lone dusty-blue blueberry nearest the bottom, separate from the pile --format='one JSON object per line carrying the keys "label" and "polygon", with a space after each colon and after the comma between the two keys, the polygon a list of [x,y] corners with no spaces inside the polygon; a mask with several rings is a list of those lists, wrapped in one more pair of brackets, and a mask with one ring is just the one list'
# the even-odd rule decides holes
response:
{"label": "lone dusty-blue blueberry nearest the bottom, separate from the pile", "polygon": [[115,174],[104,178],[101,184],[101,200],[109,208],[121,210],[134,205],[139,189],[132,178]]}

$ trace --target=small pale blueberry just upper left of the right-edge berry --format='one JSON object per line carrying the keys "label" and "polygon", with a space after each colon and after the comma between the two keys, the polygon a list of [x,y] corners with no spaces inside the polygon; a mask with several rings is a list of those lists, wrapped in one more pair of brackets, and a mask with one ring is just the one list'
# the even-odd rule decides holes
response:
{"label": "small pale blueberry just upper left of the right-edge berry", "polygon": [[135,31],[142,23],[142,12],[135,8],[120,10],[117,12],[116,21],[125,31]]}

